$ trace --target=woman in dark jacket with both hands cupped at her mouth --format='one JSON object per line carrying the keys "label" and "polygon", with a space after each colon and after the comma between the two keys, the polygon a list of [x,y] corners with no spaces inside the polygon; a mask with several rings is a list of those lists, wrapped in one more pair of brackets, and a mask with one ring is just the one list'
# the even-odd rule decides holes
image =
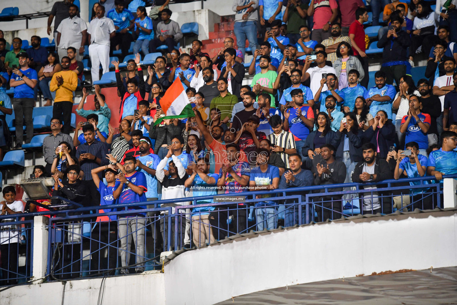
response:
{"label": "woman in dark jacket with both hands cupped at her mouth", "polygon": [[363,143],[371,142],[377,147],[378,158],[386,159],[389,147],[393,146],[395,135],[395,125],[387,119],[387,113],[384,110],[379,110],[373,125],[361,134],[361,138]]}

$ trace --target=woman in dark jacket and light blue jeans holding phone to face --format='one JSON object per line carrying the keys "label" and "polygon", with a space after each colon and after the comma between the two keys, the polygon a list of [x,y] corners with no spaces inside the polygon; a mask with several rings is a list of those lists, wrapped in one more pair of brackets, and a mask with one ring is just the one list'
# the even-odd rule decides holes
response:
{"label": "woman in dark jacket and light blue jeans holding phone to face", "polygon": [[[344,120],[346,119],[346,122]],[[352,182],[351,174],[356,167],[357,162],[362,161],[362,139],[361,130],[357,124],[357,118],[354,112],[349,112],[341,119],[340,129],[335,134],[334,143],[339,143],[336,149],[336,160],[344,162],[346,165],[346,181]]]}

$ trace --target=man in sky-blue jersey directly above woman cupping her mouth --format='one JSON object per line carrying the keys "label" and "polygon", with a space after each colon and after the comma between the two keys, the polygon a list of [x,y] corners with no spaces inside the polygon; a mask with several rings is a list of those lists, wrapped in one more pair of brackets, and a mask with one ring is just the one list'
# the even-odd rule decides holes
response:
{"label": "man in sky-blue jersey directly above woman cupping her mouth", "polygon": [[397,94],[395,87],[386,84],[386,74],[383,71],[377,71],[374,75],[376,86],[368,90],[367,105],[370,107],[370,114],[376,117],[379,110],[387,113],[388,119],[392,120],[392,102]]}

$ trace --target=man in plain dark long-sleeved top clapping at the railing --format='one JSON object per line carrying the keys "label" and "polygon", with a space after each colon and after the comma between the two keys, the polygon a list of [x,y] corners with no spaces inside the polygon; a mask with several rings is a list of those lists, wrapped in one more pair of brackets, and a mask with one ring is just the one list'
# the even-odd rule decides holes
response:
{"label": "man in plain dark long-sleeved top clapping at the railing", "polygon": [[[314,185],[344,183],[346,179],[346,166],[343,162],[335,160],[335,152],[336,148],[332,144],[324,144],[320,147],[320,155],[325,160],[326,166],[320,163],[317,164]],[[341,191],[343,191],[342,187],[329,188],[328,190],[329,193]],[[314,193],[325,193],[325,190],[315,190]],[[341,218],[341,195],[315,197],[314,202],[318,222]]]}

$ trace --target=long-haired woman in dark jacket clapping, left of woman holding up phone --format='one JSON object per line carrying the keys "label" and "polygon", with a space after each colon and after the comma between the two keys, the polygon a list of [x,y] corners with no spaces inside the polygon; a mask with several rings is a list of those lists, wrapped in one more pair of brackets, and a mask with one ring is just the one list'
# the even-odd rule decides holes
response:
{"label": "long-haired woman in dark jacket clapping, left of woman holding up phone", "polygon": [[302,155],[305,157],[306,168],[311,171],[316,170],[317,163],[325,164],[325,160],[320,156],[320,147],[324,144],[333,144],[335,139],[335,131],[330,128],[329,115],[325,112],[319,112],[317,119],[314,122],[316,130],[310,132],[305,140],[302,148]]}

